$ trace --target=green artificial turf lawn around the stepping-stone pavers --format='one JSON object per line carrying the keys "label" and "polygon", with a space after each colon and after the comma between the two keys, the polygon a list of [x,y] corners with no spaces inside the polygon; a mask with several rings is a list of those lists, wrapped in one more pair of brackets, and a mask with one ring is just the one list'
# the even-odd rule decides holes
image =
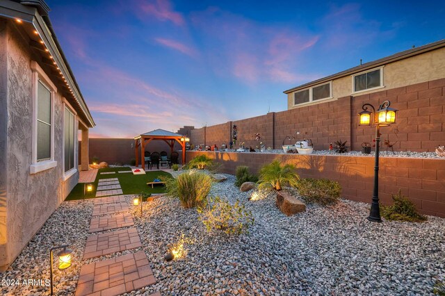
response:
{"label": "green artificial turf lawn around the stepping-stone pavers", "polygon": [[[118,171],[131,171],[131,168],[106,167],[104,169],[99,169],[93,183],[93,191],[88,192],[85,198],[91,199],[96,197],[96,189],[99,179],[118,178],[123,194],[134,195],[140,192],[163,193],[165,192],[165,186],[155,185],[154,188],[152,188],[152,186],[147,185],[147,182],[152,182],[154,179],[158,178],[158,176],[172,176],[171,174],[168,174],[168,172],[163,171],[145,172],[145,174],[118,173]],[[115,174],[100,174],[101,172],[115,172]],[[73,190],[70,192],[70,195],[68,195],[65,200],[83,199],[83,184],[84,183],[78,183],[76,186],[74,186]]]}

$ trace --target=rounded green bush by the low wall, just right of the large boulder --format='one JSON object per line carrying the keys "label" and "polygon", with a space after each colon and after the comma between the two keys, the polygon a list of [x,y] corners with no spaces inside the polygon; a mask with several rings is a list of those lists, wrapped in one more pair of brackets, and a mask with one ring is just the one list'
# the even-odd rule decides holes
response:
{"label": "rounded green bush by the low wall, just right of the large boulder", "polygon": [[341,185],[327,179],[302,179],[298,181],[298,192],[308,204],[335,204],[340,199]]}

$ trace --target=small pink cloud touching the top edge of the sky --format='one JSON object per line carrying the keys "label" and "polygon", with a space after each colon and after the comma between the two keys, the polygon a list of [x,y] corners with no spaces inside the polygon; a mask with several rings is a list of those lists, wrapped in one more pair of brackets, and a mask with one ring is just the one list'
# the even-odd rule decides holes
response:
{"label": "small pink cloud touching the top edge of the sky", "polygon": [[137,1],[136,11],[145,15],[152,15],[162,22],[172,22],[177,26],[184,26],[185,21],[181,13],[177,13],[172,10],[172,4],[168,0],[156,0],[150,3],[149,1]]}

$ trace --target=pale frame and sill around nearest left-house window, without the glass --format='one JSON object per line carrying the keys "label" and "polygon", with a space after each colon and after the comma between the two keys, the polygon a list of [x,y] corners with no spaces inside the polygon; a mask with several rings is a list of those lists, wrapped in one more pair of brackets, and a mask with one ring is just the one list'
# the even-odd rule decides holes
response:
{"label": "pale frame and sill around nearest left-house window, without the glass", "polygon": [[[31,151],[31,165],[29,168],[30,174],[37,174],[44,170],[49,170],[57,166],[57,161],[54,160],[54,100],[56,99],[57,88],[43,69],[38,65],[37,62],[31,61],[32,70],[32,99],[33,99],[33,123],[31,130],[31,141],[32,141],[32,151]],[[43,161],[37,160],[37,139],[38,139],[38,83],[39,81],[46,87],[50,92],[51,99],[51,157]]]}

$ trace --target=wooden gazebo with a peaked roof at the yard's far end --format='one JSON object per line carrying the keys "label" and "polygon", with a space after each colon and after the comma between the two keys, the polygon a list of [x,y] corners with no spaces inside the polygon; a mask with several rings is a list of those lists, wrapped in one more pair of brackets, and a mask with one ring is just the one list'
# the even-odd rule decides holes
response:
{"label": "wooden gazebo with a peaked roof at the yard's far end", "polygon": [[141,135],[136,135],[134,137],[134,154],[136,156],[136,167],[139,166],[138,157],[138,147],[140,146],[140,163],[142,167],[145,167],[145,145],[147,145],[152,140],[163,140],[170,146],[170,153],[173,152],[173,147],[175,142],[181,144],[182,147],[182,164],[186,163],[186,137],[184,135],[179,135],[179,133],[172,133],[171,131],[165,131],[163,129],[155,129],[154,131],[149,131],[148,133],[143,133]]}

